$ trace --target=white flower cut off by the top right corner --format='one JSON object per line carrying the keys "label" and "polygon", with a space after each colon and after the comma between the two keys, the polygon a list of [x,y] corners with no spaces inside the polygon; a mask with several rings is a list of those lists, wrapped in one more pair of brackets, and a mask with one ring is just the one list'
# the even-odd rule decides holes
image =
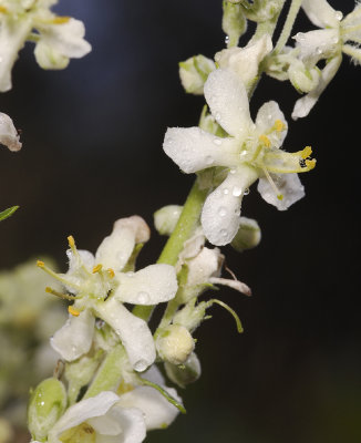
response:
{"label": "white flower cut off by the top right corner", "polygon": [[361,4],[342,20],[342,12],[336,11],[326,0],[303,0],[302,8],[310,21],[321,30],[299,32],[295,35],[298,58],[311,71],[316,64],[327,60],[317,85],[296,102],[292,119],[305,117],[336,75],[342,52],[350,55],[355,63],[361,63],[361,49],[347,44],[348,41],[361,43]]}

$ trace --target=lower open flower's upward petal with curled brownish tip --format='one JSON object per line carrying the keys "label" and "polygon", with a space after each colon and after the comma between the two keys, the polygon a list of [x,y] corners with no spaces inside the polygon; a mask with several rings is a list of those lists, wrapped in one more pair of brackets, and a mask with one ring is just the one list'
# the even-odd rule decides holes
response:
{"label": "lower open flower's upward petal with curled brownish tip", "polygon": [[130,259],[136,243],[147,241],[149,228],[136,215],[114,223],[113,231],[105,237],[96,250],[95,260],[105,268],[121,270]]}

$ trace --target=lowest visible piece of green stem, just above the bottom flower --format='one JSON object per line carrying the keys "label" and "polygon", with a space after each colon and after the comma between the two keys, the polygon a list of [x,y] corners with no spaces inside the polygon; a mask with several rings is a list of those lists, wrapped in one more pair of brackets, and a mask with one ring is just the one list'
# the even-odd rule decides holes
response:
{"label": "lowest visible piece of green stem, just above the bottom flower", "polygon": [[122,344],[116,344],[101,364],[92,384],[85,392],[84,399],[95,396],[102,391],[116,391],[121,380],[125,358]]}

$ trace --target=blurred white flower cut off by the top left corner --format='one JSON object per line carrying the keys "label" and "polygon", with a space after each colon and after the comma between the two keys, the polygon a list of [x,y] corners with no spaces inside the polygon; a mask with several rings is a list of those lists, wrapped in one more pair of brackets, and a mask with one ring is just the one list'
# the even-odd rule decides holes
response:
{"label": "blurred white flower cut off by the top left corner", "polygon": [[[43,69],[63,69],[91,51],[84,24],[50,11],[56,0],[3,0],[0,7],[0,91],[11,89],[11,70],[25,41],[35,42]],[[33,32],[35,31],[35,32]]]}

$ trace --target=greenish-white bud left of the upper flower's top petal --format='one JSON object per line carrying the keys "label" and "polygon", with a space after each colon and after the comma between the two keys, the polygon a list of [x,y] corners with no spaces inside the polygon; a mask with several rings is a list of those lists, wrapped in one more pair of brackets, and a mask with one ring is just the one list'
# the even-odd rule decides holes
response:
{"label": "greenish-white bud left of the upper flower's top petal", "polygon": [[179,63],[179,76],[183,87],[190,94],[202,95],[203,86],[212,71],[216,69],[213,60],[195,55]]}

